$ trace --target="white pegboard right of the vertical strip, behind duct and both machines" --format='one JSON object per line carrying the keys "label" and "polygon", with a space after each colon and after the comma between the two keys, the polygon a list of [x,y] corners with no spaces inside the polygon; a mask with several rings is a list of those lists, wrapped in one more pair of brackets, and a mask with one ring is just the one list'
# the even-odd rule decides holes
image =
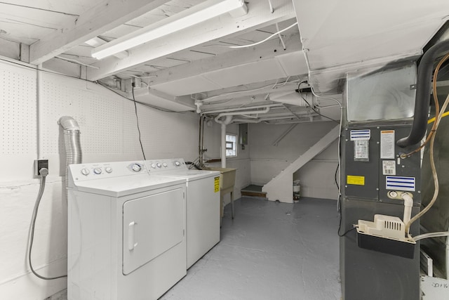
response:
{"label": "white pegboard right of the vertical strip, behind duct and both machines", "polygon": [[[58,119],[74,117],[81,129],[83,157],[101,161],[142,159],[134,103],[90,82],[43,74],[43,152],[64,151]],[[198,115],[162,112],[137,104],[142,144],[147,159],[198,154]]]}

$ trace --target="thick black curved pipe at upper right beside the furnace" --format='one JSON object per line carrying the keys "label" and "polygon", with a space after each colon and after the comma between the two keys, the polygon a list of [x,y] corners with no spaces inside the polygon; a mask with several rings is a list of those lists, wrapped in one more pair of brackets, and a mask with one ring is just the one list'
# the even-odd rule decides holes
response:
{"label": "thick black curved pipe at upper right beside the furnace", "polygon": [[[396,144],[401,147],[408,147],[419,143],[427,129],[427,112],[429,110],[430,101],[430,84],[432,71],[434,70],[434,60],[438,54],[443,51],[449,51],[449,40],[442,41],[424,53],[418,67],[416,82],[416,98],[415,98],[415,117],[413,117],[413,125],[410,133],[406,138],[401,138]],[[434,78],[436,80],[436,78]]]}

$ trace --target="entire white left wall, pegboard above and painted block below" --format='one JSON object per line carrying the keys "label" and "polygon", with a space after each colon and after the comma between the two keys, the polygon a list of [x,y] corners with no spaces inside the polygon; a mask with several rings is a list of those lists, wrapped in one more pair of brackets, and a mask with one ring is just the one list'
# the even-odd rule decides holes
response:
{"label": "entire white left wall, pegboard above and painted block below", "polygon": [[[83,162],[142,159],[130,100],[88,81],[48,72],[40,76],[38,85],[32,66],[0,63],[0,299],[41,300],[67,285],[65,278],[35,278],[25,257],[40,182],[33,177],[33,162],[45,158],[50,174],[36,220],[32,261],[41,275],[67,274],[65,149],[60,117],[69,115],[79,123]],[[194,112],[162,112],[138,104],[138,117],[147,159],[196,159],[199,116]],[[236,126],[229,126],[229,132],[236,133]],[[207,127],[204,140],[207,156],[219,158],[220,125]],[[236,187],[250,180],[248,157],[248,152],[241,152],[229,161],[229,167],[239,169],[238,181],[247,181],[236,183]]]}

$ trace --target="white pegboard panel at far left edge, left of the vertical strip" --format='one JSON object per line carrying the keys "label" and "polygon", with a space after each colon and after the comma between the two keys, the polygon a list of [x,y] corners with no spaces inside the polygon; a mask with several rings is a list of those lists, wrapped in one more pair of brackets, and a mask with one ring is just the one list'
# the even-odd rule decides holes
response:
{"label": "white pegboard panel at far left edge, left of the vertical strip", "polygon": [[0,67],[1,155],[36,152],[36,74]]}

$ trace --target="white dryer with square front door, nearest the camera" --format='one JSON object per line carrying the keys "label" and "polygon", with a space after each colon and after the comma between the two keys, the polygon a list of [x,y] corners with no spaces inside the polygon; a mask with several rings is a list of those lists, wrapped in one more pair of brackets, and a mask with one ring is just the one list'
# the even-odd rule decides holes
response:
{"label": "white dryer with square front door, nearest the camera", "polygon": [[185,182],[143,162],[69,166],[69,300],[158,299],[186,275]]}

